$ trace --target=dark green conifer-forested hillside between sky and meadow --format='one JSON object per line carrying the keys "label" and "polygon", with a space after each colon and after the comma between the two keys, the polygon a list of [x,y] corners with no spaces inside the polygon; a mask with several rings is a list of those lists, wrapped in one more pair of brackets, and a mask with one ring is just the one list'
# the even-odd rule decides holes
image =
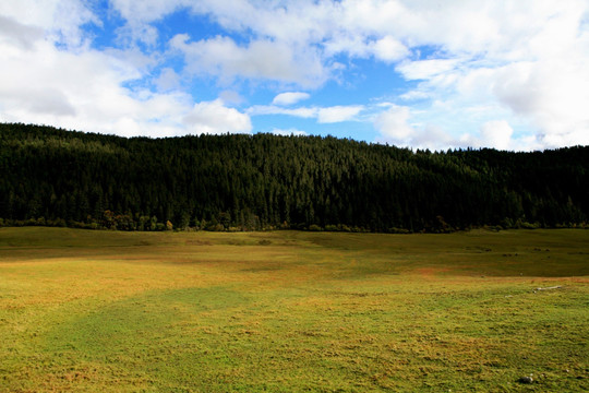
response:
{"label": "dark green conifer-forested hillside between sky and meadow", "polygon": [[447,231],[585,226],[589,147],[412,152],[320,136],[0,124],[0,225]]}

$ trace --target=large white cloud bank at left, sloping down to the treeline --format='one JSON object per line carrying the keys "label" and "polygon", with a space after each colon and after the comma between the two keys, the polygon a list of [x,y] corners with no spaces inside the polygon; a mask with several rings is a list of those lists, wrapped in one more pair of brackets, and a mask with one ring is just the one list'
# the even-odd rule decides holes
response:
{"label": "large white cloud bank at left, sloping down to the treeline", "polygon": [[[77,23],[87,20],[69,16]],[[58,48],[61,38],[51,33],[57,27],[45,26],[47,21],[40,16],[31,21],[29,26],[12,23],[0,29],[0,121],[125,136],[251,131],[249,116],[221,100],[194,104],[190,95],[173,91],[178,75],[170,69],[154,82],[165,93],[124,87],[142,79],[152,61],[136,49]],[[38,34],[39,29],[51,34]],[[13,32],[24,32],[20,36],[25,40],[1,38]]]}

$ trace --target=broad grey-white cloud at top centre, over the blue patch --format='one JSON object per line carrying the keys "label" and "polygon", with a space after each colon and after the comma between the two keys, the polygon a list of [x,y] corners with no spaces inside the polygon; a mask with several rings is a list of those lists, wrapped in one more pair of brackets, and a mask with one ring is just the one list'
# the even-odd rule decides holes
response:
{"label": "broad grey-white cloud at top centre, over the blue patch", "polygon": [[[338,68],[329,59],[333,55],[373,56],[385,62],[410,55],[388,31],[358,26],[353,17],[349,21],[354,12],[350,1],[113,0],[112,5],[128,21],[120,34],[148,45],[157,40],[151,23],[179,9],[206,15],[229,32],[245,33],[249,41],[239,45],[228,36],[191,41],[181,35],[171,41],[185,53],[189,71],[213,74],[226,83],[241,76],[316,87]],[[380,7],[373,11],[380,12]]]}

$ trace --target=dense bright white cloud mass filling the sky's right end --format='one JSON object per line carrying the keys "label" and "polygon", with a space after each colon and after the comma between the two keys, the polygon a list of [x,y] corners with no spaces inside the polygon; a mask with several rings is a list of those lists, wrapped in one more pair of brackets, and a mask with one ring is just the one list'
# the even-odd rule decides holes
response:
{"label": "dense bright white cloud mass filling the sky's right end", "polygon": [[[557,2],[524,1],[486,5],[477,11],[471,4],[448,3],[456,11],[447,13],[453,25],[431,24],[422,32],[424,41],[444,48],[444,58],[397,64],[396,71],[406,80],[421,81],[401,97],[431,99],[431,111],[436,110],[437,100],[452,102],[468,122],[481,117],[473,107],[494,107],[509,111],[512,121],[527,122],[536,134],[512,138],[508,145],[500,143],[501,148],[587,144],[589,114],[582,108],[589,106],[588,4],[572,1],[563,8]],[[458,20],[459,15],[469,17]],[[467,29],[468,23],[480,27]],[[460,31],[473,34],[460,37]],[[481,130],[491,121],[480,120]],[[484,138],[469,141],[495,142]]]}

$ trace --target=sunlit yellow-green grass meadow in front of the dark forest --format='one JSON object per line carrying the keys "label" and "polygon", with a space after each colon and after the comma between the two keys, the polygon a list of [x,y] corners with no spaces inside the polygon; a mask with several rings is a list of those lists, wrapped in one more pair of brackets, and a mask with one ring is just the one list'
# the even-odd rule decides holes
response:
{"label": "sunlit yellow-green grass meadow in front of the dark forest", "polygon": [[589,391],[589,230],[0,228],[0,392]]}

